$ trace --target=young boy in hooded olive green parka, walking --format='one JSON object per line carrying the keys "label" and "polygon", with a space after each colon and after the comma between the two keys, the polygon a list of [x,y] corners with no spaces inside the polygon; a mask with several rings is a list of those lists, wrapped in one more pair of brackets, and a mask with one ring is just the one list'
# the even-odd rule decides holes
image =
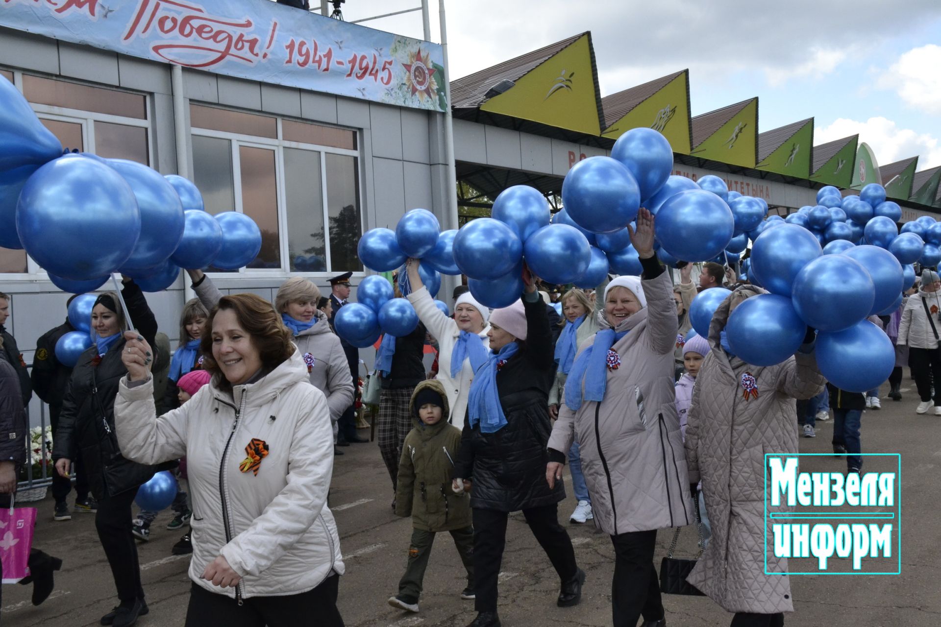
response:
{"label": "young boy in hooded olive green parka, walking", "polygon": [[424,570],[439,531],[450,531],[468,572],[462,599],[473,599],[473,527],[466,493],[455,494],[451,475],[460,446],[461,431],[448,422],[448,398],[438,381],[415,386],[408,411],[415,428],[408,431],[399,461],[395,513],[412,517],[406,573],[399,593],[389,599],[392,607],[418,611]]}

